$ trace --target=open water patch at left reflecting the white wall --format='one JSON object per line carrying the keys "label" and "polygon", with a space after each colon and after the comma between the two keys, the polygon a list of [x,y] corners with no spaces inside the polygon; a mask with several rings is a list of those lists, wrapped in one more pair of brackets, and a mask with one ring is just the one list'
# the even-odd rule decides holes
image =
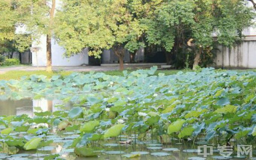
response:
{"label": "open water patch at left reflecting the white wall", "polygon": [[34,113],[38,111],[57,111],[59,110],[60,105],[64,105],[66,109],[70,109],[72,106],[70,103],[64,104],[58,99],[47,100],[44,98],[24,98],[18,101],[8,99],[6,101],[0,101],[0,116],[27,114],[32,117],[34,116]]}

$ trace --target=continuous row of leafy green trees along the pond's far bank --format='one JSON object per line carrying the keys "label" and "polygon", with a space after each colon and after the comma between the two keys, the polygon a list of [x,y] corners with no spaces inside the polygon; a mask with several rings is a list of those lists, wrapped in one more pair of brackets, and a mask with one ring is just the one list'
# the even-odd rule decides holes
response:
{"label": "continuous row of leafy green trees along the pond's far bank", "polygon": [[[255,12],[247,0],[1,0],[0,44],[23,52],[47,35],[47,69],[51,70],[51,38],[66,56],[100,57],[113,49],[123,69],[125,49],[131,61],[141,47],[161,50],[167,63],[183,68],[212,63],[216,45],[233,46],[242,30],[253,25]],[[251,1],[252,2],[252,1]],[[59,9],[61,8],[61,9]],[[16,27],[26,32],[15,34]],[[37,47],[32,50],[38,50]],[[1,48],[0,48],[1,52]],[[61,55],[60,55],[61,56]],[[174,61],[174,62],[171,62]]]}

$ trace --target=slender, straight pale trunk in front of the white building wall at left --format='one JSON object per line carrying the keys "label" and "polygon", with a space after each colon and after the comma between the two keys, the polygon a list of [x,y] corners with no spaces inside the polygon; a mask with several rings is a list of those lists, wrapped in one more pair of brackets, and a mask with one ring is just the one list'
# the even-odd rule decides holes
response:
{"label": "slender, straight pale trunk in front of the white building wall at left", "polygon": [[49,31],[46,35],[46,71],[51,72],[52,71],[52,29],[53,29],[53,18],[54,18],[54,11],[55,11],[55,0],[52,0],[52,8],[50,9],[50,25],[49,25]]}

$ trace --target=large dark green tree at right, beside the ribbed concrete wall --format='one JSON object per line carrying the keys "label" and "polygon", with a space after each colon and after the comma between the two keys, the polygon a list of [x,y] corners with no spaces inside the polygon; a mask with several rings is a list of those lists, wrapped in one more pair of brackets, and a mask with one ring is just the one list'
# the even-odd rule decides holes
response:
{"label": "large dark green tree at right, beside the ribbed concrete wall", "polygon": [[[232,46],[253,18],[252,10],[239,0],[166,0],[157,6],[154,16],[145,18],[146,36],[149,44],[160,45],[167,52],[194,50],[195,69],[213,42]],[[192,45],[187,45],[188,41]]]}

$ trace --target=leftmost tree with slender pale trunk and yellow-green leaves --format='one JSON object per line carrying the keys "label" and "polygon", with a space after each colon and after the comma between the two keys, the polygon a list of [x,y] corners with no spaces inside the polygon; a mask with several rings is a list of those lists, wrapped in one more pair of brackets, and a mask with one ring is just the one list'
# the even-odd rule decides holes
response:
{"label": "leftmost tree with slender pale trunk and yellow-green leaves", "polygon": [[[0,2],[0,37],[17,40],[19,51],[38,42],[41,35],[47,35],[47,66],[52,70],[51,38],[54,27],[55,0],[2,0]],[[23,32],[17,33],[17,28]],[[29,35],[29,36],[27,36]]]}

